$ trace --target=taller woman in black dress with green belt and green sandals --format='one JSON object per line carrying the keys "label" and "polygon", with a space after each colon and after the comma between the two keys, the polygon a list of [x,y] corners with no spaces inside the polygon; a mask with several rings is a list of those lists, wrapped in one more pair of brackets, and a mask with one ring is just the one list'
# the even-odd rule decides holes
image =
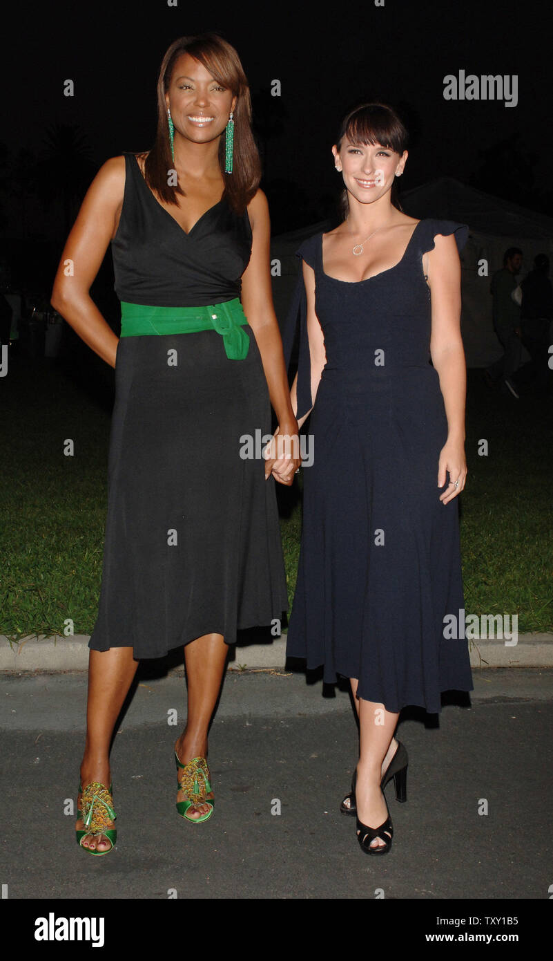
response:
{"label": "taller woman in black dress with green belt and green sandals", "polygon": [[[271,296],[269,216],[251,101],[215,35],[165,54],[149,154],[108,160],[63,251],[52,303],[115,367],[108,518],[89,641],[77,841],[115,843],[109,742],[141,657],[184,645],[187,723],[177,809],[213,811],[207,729],[237,628],[287,608],[275,480],[300,458],[243,456],[245,437],[297,437]],[[111,242],[121,337],[88,290]],[[240,298],[240,299],[239,299]]]}

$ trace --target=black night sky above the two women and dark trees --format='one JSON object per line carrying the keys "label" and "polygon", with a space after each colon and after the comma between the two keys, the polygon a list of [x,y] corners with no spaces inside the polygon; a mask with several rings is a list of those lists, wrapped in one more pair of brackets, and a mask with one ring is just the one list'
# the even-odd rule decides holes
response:
{"label": "black night sky above the two women and dark trees", "polygon": [[[304,4],[179,0],[20,3],[0,69],[8,103],[0,140],[39,151],[47,126],[77,122],[99,165],[123,150],[147,149],[156,122],[156,73],[168,44],[216,30],[233,43],[252,92],[281,81],[275,110],[283,130],[270,144],[269,177],[287,178],[316,199],[336,187],[330,146],[343,113],[380,97],[414,118],[403,188],[436,176],[467,181],[478,152],[517,133],[538,155],[536,186],[549,190],[552,55],[549,5],[373,0]],[[445,74],[517,74],[518,104],[453,101]],[[74,98],[63,81],[75,81]],[[272,100],[268,100],[272,109]],[[417,129],[419,128],[419,129]],[[552,211],[553,212],[553,211]]]}

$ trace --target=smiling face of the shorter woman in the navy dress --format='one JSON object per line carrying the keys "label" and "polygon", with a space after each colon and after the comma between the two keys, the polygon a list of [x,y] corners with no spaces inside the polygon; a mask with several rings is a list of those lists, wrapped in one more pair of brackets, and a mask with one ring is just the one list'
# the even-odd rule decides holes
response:
{"label": "smiling face of the shorter woman in the navy dress", "polygon": [[344,137],[338,151],[332,147],[337,170],[342,172],[349,194],[361,204],[372,203],[387,193],[396,176],[403,173],[407,151],[397,154],[380,143],[351,143]]}

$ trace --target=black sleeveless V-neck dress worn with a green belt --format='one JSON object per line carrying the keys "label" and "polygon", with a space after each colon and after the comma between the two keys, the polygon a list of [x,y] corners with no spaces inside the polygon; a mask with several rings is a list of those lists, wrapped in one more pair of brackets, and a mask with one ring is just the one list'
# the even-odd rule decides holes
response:
{"label": "black sleeveless V-neck dress worn with a green belt", "polygon": [[[248,212],[236,216],[223,199],[185,234],[134,155],[125,161],[112,241],[119,299],[192,307],[239,296]],[[159,657],[211,632],[232,644],[238,628],[287,610],[275,480],[261,458],[240,456],[243,435],[271,433],[261,357],[252,328],[242,330],[251,342],[238,360],[214,330],[119,340],[95,651]]]}

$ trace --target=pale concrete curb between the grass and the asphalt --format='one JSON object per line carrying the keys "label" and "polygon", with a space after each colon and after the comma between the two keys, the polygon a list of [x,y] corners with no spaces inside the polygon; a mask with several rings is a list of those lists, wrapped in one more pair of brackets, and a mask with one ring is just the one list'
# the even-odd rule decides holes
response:
{"label": "pale concrete curb between the grass and the asphalt", "polygon": [[[89,634],[46,637],[35,634],[12,642],[0,634],[0,671],[86,671]],[[176,665],[179,666],[179,660]],[[236,646],[228,667],[273,668],[286,663],[286,633],[267,644]],[[299,662],[300,663],[300,662]],[[519,634],[515,646],[501,639],[470,642],[470,666],[553,667],[553,633]]]}

